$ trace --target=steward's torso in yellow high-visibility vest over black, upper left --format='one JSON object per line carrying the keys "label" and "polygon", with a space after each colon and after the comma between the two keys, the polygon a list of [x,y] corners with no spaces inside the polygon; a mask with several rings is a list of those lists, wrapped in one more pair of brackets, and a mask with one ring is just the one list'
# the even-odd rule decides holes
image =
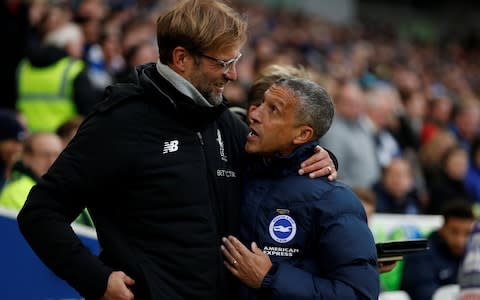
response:
{"label": "steward's torso in yellow high-visibility vest over black, upper left", "polygon": [[16,108],[32,132],[55,132],[66,120],[86,115],[101,91],[96,89],[80,59],[56,47],[36,49],[17,70]]}

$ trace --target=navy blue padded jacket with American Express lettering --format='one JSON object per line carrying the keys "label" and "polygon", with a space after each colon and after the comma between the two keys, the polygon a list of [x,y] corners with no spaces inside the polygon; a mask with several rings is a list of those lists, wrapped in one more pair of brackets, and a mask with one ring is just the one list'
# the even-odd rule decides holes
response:
{"label": "navy blue padded jacket with American Express lettering", "polygon": [[362,204],[345,184],[297,174],[315,145],[248,170],[241,239],[257,242],[273,266],[242,299],[378,299],[375,242]]}

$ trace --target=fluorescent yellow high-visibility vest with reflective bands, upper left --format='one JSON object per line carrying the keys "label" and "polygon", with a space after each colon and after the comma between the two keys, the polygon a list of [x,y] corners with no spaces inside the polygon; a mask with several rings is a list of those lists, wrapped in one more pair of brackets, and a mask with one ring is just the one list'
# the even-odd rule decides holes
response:
{"label": "fluorescent yellow high-visibility vest with reflective bands, upper left", "polygon": [[70,57],[47,67],[34,67],[27,59],[20,62],[16,107],[30,131],[55,132],[77,114],[73,81],[83,68],[83,61]]}

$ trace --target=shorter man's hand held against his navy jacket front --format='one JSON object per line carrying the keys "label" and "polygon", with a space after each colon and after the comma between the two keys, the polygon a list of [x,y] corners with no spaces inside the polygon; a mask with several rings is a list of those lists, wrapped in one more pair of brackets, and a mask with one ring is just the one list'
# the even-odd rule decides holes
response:
{"label": "shorter man's hand held against his navy jacket front", "polygon": [[221,246],[227,269],[251,288],[260,288],[263,278],[272,266],[268,255],[252,243],[252,251],[233,236],[223,238]]}

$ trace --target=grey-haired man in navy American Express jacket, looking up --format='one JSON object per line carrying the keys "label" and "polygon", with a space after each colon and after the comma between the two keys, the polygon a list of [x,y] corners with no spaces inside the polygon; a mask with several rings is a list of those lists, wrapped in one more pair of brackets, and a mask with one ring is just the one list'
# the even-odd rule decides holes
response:
{"label": "grey-haired man in navy American Express jacket, looking up", "polygon": [[[275,82],[249,112],[240,238],[221,246],[242,299],[378,299],[375,242],[351,188],[298,166],[330,128],[331,97],[308,79]],[[245,246],[247,245],[247,246]]]}

